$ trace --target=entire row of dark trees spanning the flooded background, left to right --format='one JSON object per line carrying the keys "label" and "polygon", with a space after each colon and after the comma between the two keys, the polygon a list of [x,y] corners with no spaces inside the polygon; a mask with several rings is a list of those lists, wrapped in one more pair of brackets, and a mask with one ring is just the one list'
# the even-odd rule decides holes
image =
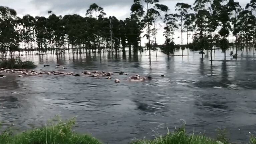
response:
{"label": "entire row of dark trees spanning the flooded background, left to right", "polygon": [[[177,3],[176,13],[168,14],[169,8],[159,3],[159,0],[134,0],[131,15],[125,20],[115,17],[104,17],[102,7],[91,4],[86,11],[86,17],[77,14],[56,16],[48,11],[49,17],[25,15],[17,17],[16,11],[8,7],[0,7],[0,51],[2,55],[8,52],[12,56],[15,51],[24,48],[28,54],[37,50],[41,54],[62,53],[64,50],[74,53],[84,51],[125,51],[133,50],[137,55],[142,51],[141,39],[146,37],[147,49],[156,49],[158,23],[162,20],[165,44],[161,50],[170,55],[176,49],[199,50],[204,54],[215,47],[226,55],[229,47],[237,51],[251,47],[255,49],[256,38],[256,0],[242,8],[234,0],[195,0],[193,5]],[[174,33],[179,31],[181,45],[174,43]],[[146,33],[146,34],[145,34]],[[145,34],[145,35],[142,35]],[[229,36],[235,41],[230,43]],[[185,40],[184,40],[185,39]],[[189,41],[192,40],[191,43]],[[184,42],[185,41],[185,42]],[[156,53],[157,54],[157,53]]]}

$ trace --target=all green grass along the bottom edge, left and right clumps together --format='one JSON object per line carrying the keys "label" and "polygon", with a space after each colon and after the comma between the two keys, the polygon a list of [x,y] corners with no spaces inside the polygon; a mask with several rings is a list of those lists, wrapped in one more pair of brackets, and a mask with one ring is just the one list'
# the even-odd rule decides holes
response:
{"label": "all green grass along the bottom edge, left and right clumps together", "polygon": [[[62,121],[57,117],[58,123],[53,121],[42,128],[13,135],[10,131],[0,134],[0,144],[101,144],[101,142],[90,135],[79,135],[72,131],[75,119]],[[137,140],[130,144],[231,144],[225,136],[225,130],[218,130],[216,139],[206,137],[204,134],[188,134],[185,126],[168,132],[154,140]],[[256,144],[256,137],[251,136],[249,144]]]}

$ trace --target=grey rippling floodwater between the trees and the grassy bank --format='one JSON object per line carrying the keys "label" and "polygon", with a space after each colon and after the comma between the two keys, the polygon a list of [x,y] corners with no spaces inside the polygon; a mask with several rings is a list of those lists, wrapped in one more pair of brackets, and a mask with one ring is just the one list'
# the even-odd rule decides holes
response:
{"label": "grey rippling floodwater between the trees and the grassy bank", "polygon": [[[180,54],[181,52],[176,52]],[[184,51],[184,54],[187,52]],[[201,59],[196,52],[170,56],[152,52],[142,57],[105,53],[100,63],[95,55],[33,55],[37,70],[66,66],[84,70],[152,76],[150,82],[95,79],[72,76],[6,77],[0,79],[0,121],[2,128],[14,125],[18,131],[43,125],[60,114],[77,116],[75,131],[90,133],[103,143],[125,144],[136,138],[154,138],[186,123],[188,132],[204,132],[215,137],[218,127],[226,128],[232,142],[246,143],[249,132],[256,134],[256,58],[252,52],[237,60],[221,51]],[[240,56],[238,52],[238,56]],[[49,67],[42,67],[49,64]],[[161,74],[166,75],[160,77]]]}

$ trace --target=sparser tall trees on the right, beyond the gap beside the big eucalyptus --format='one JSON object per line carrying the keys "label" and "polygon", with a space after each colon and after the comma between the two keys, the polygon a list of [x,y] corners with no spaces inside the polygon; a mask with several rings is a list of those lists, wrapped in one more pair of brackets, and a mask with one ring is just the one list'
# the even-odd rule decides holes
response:
{"label": "sparser tall trees on the right, beyond the gap beside the big eucalyptus", "polygon": [[[212,51],[216,47],[225,53],[225,58],[226,50],[230,47],[236,48],[234,57],[237,57],[238,50],[243,54],[243,49],[246,48],[248,53],[248,48],[251,47],[253,55],[255,54],[256,17],[253,15],[253,11],[256,10],[255,0],[251,0],[245,8],[234,0],[196,0],[193,6],[177,3],[175,8],[177,13],[166,14],[164,19],[166,42],[162,50],[165,53],[170,54],[175,50],[174,32],[179,30],[182,50],[185,47],[188,50],[200,50],[202,57],[204,50],[207,53],[209,50],[211,60]],[[184,33],[187,39],[186,45],[183,45]],[[189,43],[191,33],[193,42]],[[234,42],[229,42],[229,36],[235,37]]]}

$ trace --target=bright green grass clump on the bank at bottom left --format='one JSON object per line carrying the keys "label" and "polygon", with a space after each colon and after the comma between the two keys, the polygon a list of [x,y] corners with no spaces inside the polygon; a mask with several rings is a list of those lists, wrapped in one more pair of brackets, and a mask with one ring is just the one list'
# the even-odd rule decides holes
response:
{"label": "bright green grass clump on the bank at bottom left", "polygon": [[57,124],[35,128],[17,135],[5,131],[0,135],[0,144],[101,144],[89,135],[79,135],[72,131],[74,119]]}

